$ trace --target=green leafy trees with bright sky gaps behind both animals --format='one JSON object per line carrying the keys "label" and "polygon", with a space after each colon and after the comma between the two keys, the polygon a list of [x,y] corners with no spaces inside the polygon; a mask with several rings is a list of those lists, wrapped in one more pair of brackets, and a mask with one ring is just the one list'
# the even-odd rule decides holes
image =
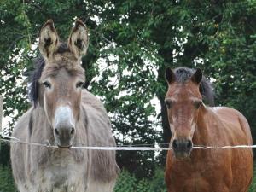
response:
{"label": "green leafy trees with bright sky gaps behind both animals", "polygon": [[[256,138],[255,1],[15,0],[1,1],[0,15],[0,94],[10,128],[29,108],[22,74],[38,55],[32,45],[40,27],[53,19],[65,39],[79,17],[90,29],[86,85],[105,103],[119,145],[169,143],[164,73],[180,66],[201,67],[212,77],[216,104],[245,114]],[[151,104],[155,97],[160,113]],[[118,162],[148,177],[165,156],[121,152]]]}

